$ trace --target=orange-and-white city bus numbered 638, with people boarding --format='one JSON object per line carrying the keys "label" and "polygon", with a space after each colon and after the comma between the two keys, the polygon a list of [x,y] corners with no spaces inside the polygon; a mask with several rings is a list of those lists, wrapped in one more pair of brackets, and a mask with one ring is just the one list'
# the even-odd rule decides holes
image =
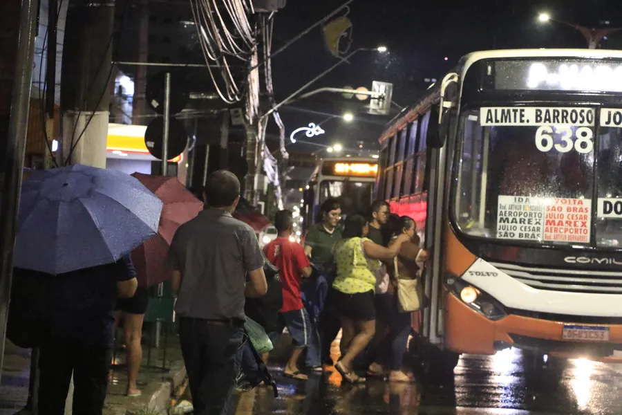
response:
{"label": "orange-and-white city bus numbered 638, with people boarding", "polygon": [[622,52],[482,51],[388,123],[375,195],[431,249],[415,317],[437,370],[622,356],[621,98]]}

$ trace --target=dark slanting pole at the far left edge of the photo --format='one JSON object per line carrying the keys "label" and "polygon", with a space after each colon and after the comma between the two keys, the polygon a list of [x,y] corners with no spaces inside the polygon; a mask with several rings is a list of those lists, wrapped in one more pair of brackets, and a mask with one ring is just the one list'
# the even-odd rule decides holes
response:
{"label": "dark slanting pole at the far left edge of the photo", "polygon": [[13,247],[28,133],[38,2],[5,0],[0,13],[0,374],[11,292]]}

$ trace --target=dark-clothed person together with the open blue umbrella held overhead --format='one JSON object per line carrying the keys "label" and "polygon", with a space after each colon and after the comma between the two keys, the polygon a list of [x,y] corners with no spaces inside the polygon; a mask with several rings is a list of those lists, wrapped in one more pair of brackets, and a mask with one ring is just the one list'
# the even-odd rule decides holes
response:
{"label": "dark-clothed person together with the open blue umbrella held overhead", "polygon": [[156,234],[162,201],[135,178],[72,165],[24,181],[7,337],[39,347],[39,414],[102,414],[117,296],[137,281],[129,252]]}

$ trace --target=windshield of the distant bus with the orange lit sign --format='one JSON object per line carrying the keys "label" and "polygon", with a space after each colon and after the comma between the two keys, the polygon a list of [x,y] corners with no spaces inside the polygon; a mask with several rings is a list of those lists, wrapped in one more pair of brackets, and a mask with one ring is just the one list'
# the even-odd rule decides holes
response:
{"label": "windshield of the distant bus with the orange lit sign", "polygon": [[345,217],[355,212],[366,212],[371,201],[374,183],[358,181],[321,181],[319,185],[319,203],[334,198],[341,205],[341,214]]}

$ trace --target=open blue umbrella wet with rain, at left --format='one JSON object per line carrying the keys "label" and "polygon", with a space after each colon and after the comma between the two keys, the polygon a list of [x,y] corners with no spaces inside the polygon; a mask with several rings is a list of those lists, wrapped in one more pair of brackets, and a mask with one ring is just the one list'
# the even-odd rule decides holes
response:
{"label": "open blue umbrella wet with rain, at left", "polygon": [[116,170],[32,172],[19,202],[14,266],[62,274],[117,261],[158,232],[162,201]]}

